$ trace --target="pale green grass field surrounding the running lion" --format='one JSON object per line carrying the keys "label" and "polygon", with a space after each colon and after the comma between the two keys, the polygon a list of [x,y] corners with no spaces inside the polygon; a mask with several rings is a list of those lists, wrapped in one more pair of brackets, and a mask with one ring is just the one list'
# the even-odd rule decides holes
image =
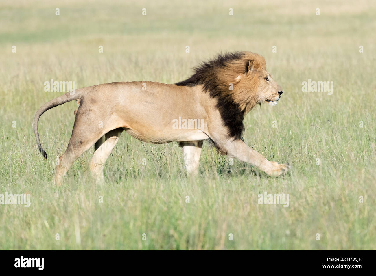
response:
{"label": "pale green grass field surrounding the running lion", "polygon": [[[0,205],[0,249],[375,249],[375,14],[371,0],[2,1],[0,194],[31,205]],[[187,179],[176,143],[123,133],[104,184],[91,148],[54,185],[76,103],[42,115],[44,161],[32,121],[63,94],[45,81],[175,83],[234,50],[262,54],[284,88],[277,106],[246,116],[244,140],[290,174],[268,177],[204,143],[200,177]],[[302,92],[308,79],[333,81],[333,94]],[[289,194],[289,206],[258,204],[265,192]]]}

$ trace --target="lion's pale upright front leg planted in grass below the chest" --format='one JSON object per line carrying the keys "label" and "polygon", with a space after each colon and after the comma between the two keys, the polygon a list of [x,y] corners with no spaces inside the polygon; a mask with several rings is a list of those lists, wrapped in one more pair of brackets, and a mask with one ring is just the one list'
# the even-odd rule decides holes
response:
{"label": "lion's pale upright front leg planted in grass below the chest", "polygon": [[187,170],[187,175],[199,174],[199,160],[202,150],[202,143],[203,141],[179,143],[179,146],[183,151],[183,159],[185,168]]}

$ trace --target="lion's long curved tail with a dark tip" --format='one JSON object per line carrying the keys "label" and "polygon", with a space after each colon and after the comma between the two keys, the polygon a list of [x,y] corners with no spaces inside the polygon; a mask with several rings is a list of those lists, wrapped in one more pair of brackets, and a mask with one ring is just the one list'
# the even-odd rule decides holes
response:
{"label": "lion's long curved tail with a dark tip", "polygon": [[38,133],[38,122],[39,118],[42,116],[44,112],[46,112],[49,109],[52,109],[55,106],[59,106],[61,104],[67,103],[69,101],[73,100],[79,100],[83,93],[87,92],[88,90],[91,90],[92,87],[83,87],[77,90],[74,90],[74,92],[68,92],[64,95],[61,95],[48,103],[45,103],[41,106],[41,108],[35,113],[34,117],[34,134],[36,138],[36,144],[38,145],[39,152],[43,155],[43,157],[47,160],[47,153],[44,151],[41,145],[41,141],[39,140],[39,133]]}

